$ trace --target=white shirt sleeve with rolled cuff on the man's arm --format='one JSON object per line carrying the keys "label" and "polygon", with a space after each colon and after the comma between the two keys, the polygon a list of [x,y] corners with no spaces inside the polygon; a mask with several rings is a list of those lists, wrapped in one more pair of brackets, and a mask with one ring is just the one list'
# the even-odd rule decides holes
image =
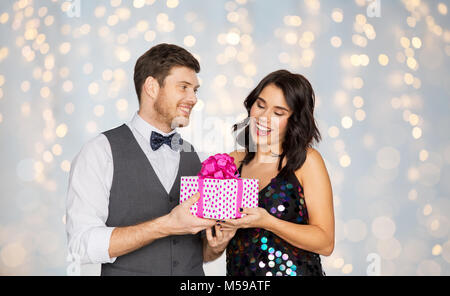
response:
{"label": "white shirt sleeve with rolled cuff on the man's arm", "polygon": [[109,190],[113,163],[111,148],[100,134],[74,158],[66,200],[66,231],[69,254],[82,264],[113,263],[108,254],[114,227],[107,227]]}

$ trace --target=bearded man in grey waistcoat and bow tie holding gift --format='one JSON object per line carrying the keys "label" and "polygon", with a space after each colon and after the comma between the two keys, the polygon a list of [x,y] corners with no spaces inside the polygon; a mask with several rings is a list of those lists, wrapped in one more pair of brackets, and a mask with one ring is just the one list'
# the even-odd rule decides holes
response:
{"label": "bearded man in grey waistcoat and bow tie holding gift", "polygon": [[[215,248],[223,247],[211,236],[216,221],[189,212],[198,194],[179,205],[180,177],[201,169],[197,153],[174,130],[189,123],[199,71],[181,47],[148,50],[134,71],[139,111],[84,145],[72,164],[69,252],[81,263],[102,263],[102,275],[204,275],[203,258],[215,258]],[[205,229],[212,247],[207,239],[202,245]]]}

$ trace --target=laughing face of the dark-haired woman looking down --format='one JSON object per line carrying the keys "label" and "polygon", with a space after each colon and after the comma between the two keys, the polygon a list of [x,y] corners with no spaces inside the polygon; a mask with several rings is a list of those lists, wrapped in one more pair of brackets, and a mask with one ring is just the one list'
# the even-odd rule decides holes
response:
{"label": "laughing face of the dark-haired woman looking down", "polygon": [[256,144],[281,144],[292,111],[283,91],[267,85],[250,109],[250,135]]}

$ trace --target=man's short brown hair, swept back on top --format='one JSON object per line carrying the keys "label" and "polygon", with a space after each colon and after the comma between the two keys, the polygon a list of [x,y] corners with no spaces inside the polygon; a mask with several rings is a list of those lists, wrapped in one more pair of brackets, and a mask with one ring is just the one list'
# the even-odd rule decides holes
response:
{"label": "man's short brown hair, swept back on top", "polygon": [[194,56],[182,47],[173,44],[158,44],[150,48],[136,62],[134,67],[134,86],[141,102],[142,85],[147,77],[155,78],[159,86],[164,86],[164,80],[173,67],[182,66],[200,72],[200,64]]}

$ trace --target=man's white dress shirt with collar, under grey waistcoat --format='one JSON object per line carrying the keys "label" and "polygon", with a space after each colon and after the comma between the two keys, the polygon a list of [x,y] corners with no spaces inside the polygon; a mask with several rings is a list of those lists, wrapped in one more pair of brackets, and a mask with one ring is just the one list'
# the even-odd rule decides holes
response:
{"label": "man's white dress shirt with collar, under grey waistcoat", "polygon": [[[153,151],[150,135],[156,131],[137,113],[128,127],[169,193],[178,173],[180,152],[162,145]],[[204,156],[200,156],[204,160]],[[107,227],[109,194],[114,174],[111,146],[104,134],[86,143],[72,162],[67,192],[66,231],[69,254],[79,255],[82,264],[113,263],[109,257],[109,241],[114,227]]]}

